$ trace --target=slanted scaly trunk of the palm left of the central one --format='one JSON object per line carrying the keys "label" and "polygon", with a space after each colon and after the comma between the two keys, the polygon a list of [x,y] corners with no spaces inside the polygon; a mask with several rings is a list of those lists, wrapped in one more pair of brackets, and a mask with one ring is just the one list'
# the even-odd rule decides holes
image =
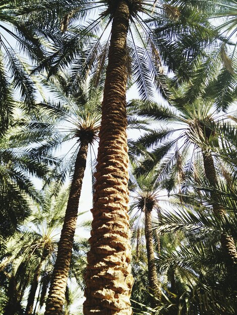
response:
{"label": "slanted scaly trunk of the palm left of the central one", "polygon": [[82,181],[86,168],[88,141],[82,140],[75,162],[75,170],[71,183],[64,225],[58,244],[57,258],[52,272],[52,278],[46,301],[45,315],[60,315],[63,311],[65,291],[72,256],[73,239],[77,224],[78,205],[81,195]]}

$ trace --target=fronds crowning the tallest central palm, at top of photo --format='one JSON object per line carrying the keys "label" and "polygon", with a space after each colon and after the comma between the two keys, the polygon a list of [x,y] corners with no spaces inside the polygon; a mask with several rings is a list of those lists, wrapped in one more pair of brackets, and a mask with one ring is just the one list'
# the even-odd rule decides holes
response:
{"label": "fronds crowning the tallest central palm, at top of photo", "polygon": [[[203,49],[217,33],[205,15],[194,11],[186,2],[173,5],[129,0],[128,5],[128,71],[134,75],[131,82],[136,82],[144,99],[152,98],[153,84],[163,97],[167,97],[168,79],[163,69],[168,67],[169,71],[177,72],[181,80],[188,80],[198,55],[203,54]],[[51,64],[49,74],[52,74],[71,64],[72,89],[76,91],[88,72],[94,84],[104,73],[108,58],[109,25],[117,2],[79,1],[70,6],[71,12],[62,21],[63,31],[68,32],[66,45],[62,42],[62,47],[38,69]],[[83,53],[79,49],[81,45],[86,47]]]}

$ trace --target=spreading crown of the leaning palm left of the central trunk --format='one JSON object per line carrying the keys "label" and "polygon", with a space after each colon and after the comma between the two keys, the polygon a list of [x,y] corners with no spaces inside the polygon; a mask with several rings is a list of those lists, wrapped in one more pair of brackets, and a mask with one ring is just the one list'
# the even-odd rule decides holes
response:
{"label": "spreading crown of the leaning palm left of the central trunk", "polygon": [[[60,78],[60,82],[57,80]],[[102,84],[93,87],[90,82],[81,86],[77,94],[70,91],[70,79],[61,76],[44,80],[45,87],[54,95],[53,100],[38,104],[38,114],[25,116],[19,123],[23,126],[14,139],[28,145],[34,143],[35,154],[55,154],[67,147],[66,153],[57,159],[54,177],[60,187],[72,175],[81,141],[90,144],[90,160],[94,169],[96,145],[101,120]],[[148,120],[139,119],[128,107],[128,127],[147,129]],[[55,157],[56,159],[56,157]]]}

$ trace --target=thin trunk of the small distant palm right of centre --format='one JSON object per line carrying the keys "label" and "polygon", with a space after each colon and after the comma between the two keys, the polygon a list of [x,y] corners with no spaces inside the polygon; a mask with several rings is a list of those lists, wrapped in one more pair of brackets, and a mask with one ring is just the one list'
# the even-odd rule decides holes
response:
{"label": "thin trunk of the small distant palm right of centre", "polygon": [[152,216],[151,210],[147,207],[145,207],[145,238],[148,261],[149,290],[154,296],[151,298],[151,304],[154,307],[157,304],[157,299],[160,299],[160,287],[155,266],[155,252],[152,237]]}

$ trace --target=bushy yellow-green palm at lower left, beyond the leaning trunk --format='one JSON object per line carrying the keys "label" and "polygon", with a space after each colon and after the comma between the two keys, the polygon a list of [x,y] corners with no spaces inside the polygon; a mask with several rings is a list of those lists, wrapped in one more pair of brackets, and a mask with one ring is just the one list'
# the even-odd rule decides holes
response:
{"label": "bushy yellow-green palm at lower left, beyond the leaning trunk", "polygon": [[32,215],[8,241],[5,257],[0,263],[1,270],[9,273],[9,300],[5,314],[19,311],[27,287],[30,289],[25,314],[32,314],[42,266],[55,255],[57,233],[62,225],[68,194],[61,191],[55,199],[50,196],[51,192],[52,189],[45,192],[41,205],[32,205]]}

